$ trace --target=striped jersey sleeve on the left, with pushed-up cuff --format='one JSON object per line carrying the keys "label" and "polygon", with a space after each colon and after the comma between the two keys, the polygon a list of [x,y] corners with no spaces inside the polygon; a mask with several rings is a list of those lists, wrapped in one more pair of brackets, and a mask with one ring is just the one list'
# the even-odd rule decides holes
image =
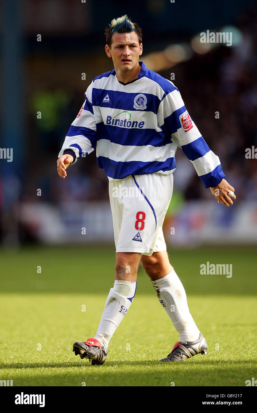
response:
{"label": "striped jersey sleeve on the left, with pushed-up cuff", "polygon": [[58,157],[60,157],[66,150],[72,150],[75,154],[75,159],[71,164],[73,165],[79,157],[85,157],[87,154],[90,154],[97,144],[96,130],[96,122],[92,107],[91,83],[85,93],[85,102],[71,124]]}

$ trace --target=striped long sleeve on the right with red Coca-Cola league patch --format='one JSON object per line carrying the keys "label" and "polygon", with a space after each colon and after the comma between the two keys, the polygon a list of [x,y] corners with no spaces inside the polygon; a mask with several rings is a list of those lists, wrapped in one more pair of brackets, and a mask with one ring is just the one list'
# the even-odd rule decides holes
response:
{"label": "striped long sleeve on the right with red Coca-Cola league patch", "polygon": [[218,185],[225,176],[219,157],[203,139],[174,85],[163,95],[158,109],[158,123],[172,141],[182,148],[205,188]]}

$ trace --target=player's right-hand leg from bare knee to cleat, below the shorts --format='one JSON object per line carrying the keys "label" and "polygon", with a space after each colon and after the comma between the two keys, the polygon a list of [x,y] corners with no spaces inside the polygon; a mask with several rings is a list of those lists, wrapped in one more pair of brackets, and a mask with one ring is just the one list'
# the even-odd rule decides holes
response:
{"label": "player's right-hand leg from bare knee to cleat, below the shorts", "polygon": [[207,343],[191,316],[186,292],[170,265],[167,251],[153,252],[152,256],[144,255],[141,263],[151,278],[160,304],[179,333],[179,342],[175,344],[178,344],[177,347],[174,346],[174,351],[162,361],[185,360],[198,353],[205,354]]}

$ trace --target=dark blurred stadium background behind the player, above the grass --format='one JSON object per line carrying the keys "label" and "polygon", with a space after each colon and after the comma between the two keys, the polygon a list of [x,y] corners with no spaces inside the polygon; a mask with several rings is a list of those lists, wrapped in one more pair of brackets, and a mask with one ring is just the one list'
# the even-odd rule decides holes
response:
{"label": "dark blurred stadium background behind the player, above the grass", "polygon": [[[257,242],[257,163],[245,158],[257,140],[257,11],[250,3],[217,3],[216,11],[191,2],[149,0],[140,9],[130,3],[143,29],[146,66],[179,88],[236,187],[233,208],[218,205],[177,150],[165,221],[167,243],[174,246],[219,243],[221,237],[224,243]],[[125,12],[118,2],[106,9],[101,1],[26,0],[13,10],[4,2],[1,147],[13,147],[13,161],[0,164],[3,244],[66,243],[67,229],[73,242],[113,242],[108,180],[95,151],[70,168],[66,180],[57,176],[55,163],[87,86],[113,68],[104,52],[104,27]],[[208,28],[232,32],[232,46],[200,43],[199,33]]]}

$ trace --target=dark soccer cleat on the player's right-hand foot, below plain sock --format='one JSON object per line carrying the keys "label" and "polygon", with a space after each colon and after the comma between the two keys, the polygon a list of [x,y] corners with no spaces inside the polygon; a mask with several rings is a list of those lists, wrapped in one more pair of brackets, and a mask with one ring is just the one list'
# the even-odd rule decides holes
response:
{"label": "dark soccer cleat on the player's right-hand foot, below plain sock", "polygon": [[167,357],[162,358],[160,361],[186,360],[187,358],[196,356],[196,354],[206,354],[207,348],[208,344],[202,333],[200,333],[196,341],[188,341],[186,343],[178,341],[175,343],[171,353],[168,354]]}

